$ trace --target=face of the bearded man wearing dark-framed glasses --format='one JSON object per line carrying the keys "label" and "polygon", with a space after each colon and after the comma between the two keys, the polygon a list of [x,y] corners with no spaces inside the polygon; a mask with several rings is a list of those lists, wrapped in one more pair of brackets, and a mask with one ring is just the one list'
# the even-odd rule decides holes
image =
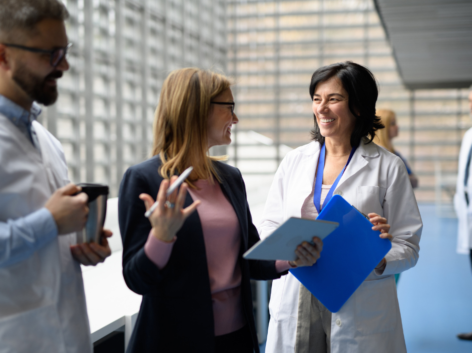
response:
{"label": "face of the bearded man wearing dark-framed glasses", "polygon": [[[64,21],[44,19],[36,26],[35,35],[30,36],[22,45],[52,50],[67,46],[67,34]],[[57,79],[63,71],[69,69],[66,58],[57,67],[50,63],[51,55],[30,52],[19,48],[12,51],[11,77],[20,88],[20,92],[31,100],[50,105],[58,97]],[[23,91],[23,92],[22,92]]]}

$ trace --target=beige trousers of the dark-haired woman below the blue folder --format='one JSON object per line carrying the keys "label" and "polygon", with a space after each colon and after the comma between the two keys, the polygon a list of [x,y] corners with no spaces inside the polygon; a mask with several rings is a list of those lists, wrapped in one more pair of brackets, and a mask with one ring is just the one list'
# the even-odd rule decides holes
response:
{"label": "beige trousers of the dark-haired woman below the blue folder", "polygon": [[331,312],[301,283],[295,353],[331,352]]}

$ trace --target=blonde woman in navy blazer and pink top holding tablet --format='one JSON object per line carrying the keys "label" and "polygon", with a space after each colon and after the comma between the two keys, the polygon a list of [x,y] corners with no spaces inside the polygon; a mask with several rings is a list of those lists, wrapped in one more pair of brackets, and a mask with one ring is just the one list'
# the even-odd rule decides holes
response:
{"label": "blonde woman in navy blazer and pink top holding tablet", "polygon": [[[231,143],[237,122],[223,75],[185,68],[165,80],[153,157],[126,171],[119,193],[123,275],[143,295],[128,352],[259,352],[249,280],[279,278],[319,258],[318,238],[300,245],[292,263],[242,258],[259,241],[244,181],[223,157],[208,155]],[[187,183],[166,199],[189,166]],[[159,207],[147,219],[150,195]]]}

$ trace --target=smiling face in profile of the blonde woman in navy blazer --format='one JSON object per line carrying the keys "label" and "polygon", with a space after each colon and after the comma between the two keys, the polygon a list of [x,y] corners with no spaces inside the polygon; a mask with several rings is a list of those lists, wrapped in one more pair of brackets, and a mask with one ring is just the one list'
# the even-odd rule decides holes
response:
{"label": "smiling face in profile of the blonde woman in navy blazer", "polygon": [[[212,101],[232,103],[233,93],[228,88]],[[231,114],[231,108],[231,104],[211,104],[207,126],[208,148],[231,143],[231,127],[239,121],[236,113]]]}

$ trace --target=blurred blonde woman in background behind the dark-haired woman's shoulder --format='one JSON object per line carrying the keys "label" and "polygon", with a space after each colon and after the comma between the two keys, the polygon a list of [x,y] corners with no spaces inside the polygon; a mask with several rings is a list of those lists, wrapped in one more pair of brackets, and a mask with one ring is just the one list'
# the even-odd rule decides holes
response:
{"label": "blurred blonde woman in background behind the dark-haired woman's shoulder", "polygon": [[375,114],[380,117],[380,120],[382,121],[383,125],[385,125],[385,128],[377,130],[375,132],[376,136],[374,142],[377,145],[380,145],[385,148],[387,151],[396,154],[398,157],[400,157],[400,159],[405,164],[406,171],[408,172],[408,177],[410,178],[411,186],[413,187],[413,189],[416,188],[418,186],[418,179],[411,171],[411,168],[408,165],[408,162],[406,162],[406,159],[404,159],[403,156],[400,155],[400,153],[395,151],[392,145],[392,138],[398,136],[398,125],[396,124],[395,113],[392,110],[388,109],[378,109]]}

